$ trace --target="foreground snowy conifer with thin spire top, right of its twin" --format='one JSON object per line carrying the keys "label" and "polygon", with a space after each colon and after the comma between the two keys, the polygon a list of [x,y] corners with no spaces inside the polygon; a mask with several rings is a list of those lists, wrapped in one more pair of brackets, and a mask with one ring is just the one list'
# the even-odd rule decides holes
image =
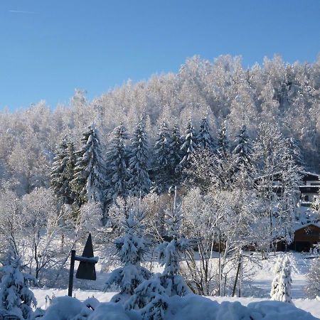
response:
{"label": "foreground snowy conifer with thin spire top, right of its twin", "polygon": [[196,244],[194,240],[181,237],[180,228],[183,215],[181,205],[177,203],[176,188],[174,192],[174,203],[171,210],[166,211],[165,223],[168,227],[168,236],[172,240],[164,241],[159,247],[159,263],[164,266],[161,274],[161,285],[166,289],[166,294],[171,297],[178,295],[185,296],[190,289],[183,277],[178,274],[180,270],[181,254]]}

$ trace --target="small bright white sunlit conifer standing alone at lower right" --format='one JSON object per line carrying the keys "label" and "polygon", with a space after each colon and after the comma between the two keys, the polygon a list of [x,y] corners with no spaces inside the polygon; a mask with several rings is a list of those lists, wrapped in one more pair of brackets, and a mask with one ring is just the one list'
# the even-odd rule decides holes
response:
{"label": "small bright white sunlit conifer standing alone at lower right", "polygon": [[272,300],[292,303],[292,277],[289,257],[278,258],[274,266],[270,297]]}

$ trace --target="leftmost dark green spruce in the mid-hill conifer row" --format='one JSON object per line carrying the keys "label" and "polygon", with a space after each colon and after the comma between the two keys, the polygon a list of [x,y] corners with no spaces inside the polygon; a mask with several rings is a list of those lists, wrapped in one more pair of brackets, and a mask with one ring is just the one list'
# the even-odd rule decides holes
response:
{"label": "leftmost dark green spruce in the mid-hill conifer row", "polygon": [[62,203],[72,204],[74,195],[71,188],[75,169],[75,152],[73,142],[68,139],[58,145],[50,172],[50,188]]}

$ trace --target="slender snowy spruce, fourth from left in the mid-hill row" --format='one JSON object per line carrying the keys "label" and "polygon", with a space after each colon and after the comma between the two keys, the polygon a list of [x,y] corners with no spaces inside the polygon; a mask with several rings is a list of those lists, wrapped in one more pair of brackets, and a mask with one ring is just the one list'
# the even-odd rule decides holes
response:
{"label": "slender snowy spruce, fourth from left in the mid-hill row", "polygon": [[132,196],[145,196],[150,191],[148,174],[148,140],[144,119],[137,123],[131,139],[129,156],[129,187]]}

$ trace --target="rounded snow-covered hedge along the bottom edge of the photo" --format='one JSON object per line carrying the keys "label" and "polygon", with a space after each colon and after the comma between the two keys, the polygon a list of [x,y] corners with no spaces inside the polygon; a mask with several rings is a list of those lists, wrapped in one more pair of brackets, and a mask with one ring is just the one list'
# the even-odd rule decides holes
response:
{"label": "rounded snow-covered hedge along the bottom edge of the photo", "polygon": [[[124,310],[121,304],[99,303],[96,299],[80,302],[71,297],[57,297],[46,311],[43,320],[141,320],[137,310]],[[148,318],[145,318],[148,319]],[[151,318],[150,318],[151,319]],[[212,301],[196,294],[169,298],[169,308],[164,320],[314,320],[306,311],[284,302],[252,302],[243,306],[240,302]]]}

